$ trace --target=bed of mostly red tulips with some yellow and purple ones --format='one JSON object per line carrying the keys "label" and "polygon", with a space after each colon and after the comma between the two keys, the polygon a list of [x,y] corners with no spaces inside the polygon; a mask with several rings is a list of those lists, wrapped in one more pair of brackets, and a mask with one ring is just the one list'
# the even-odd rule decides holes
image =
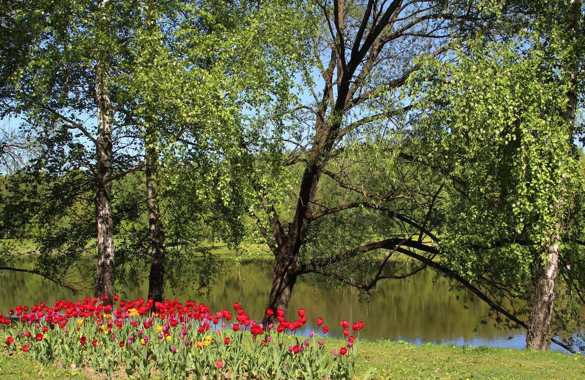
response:
{"label": "bed of mostly red tulips with some yellow and purple ones", "polygon": [[0,314],[0,323],[8,325],[0,330],[0,344],[10,355],[85,365],[108,377],[123,370],[139,378],[354,378],[362,322],[340,322],[347,345],[331,354],[323,338],[329,327],[321,318],[319,333],[295,334],[307,322],[304,309],[292,322],[277,310],[280,324],[265,329],[250,320],[239,303],[233,313],[211,313],[203,303],[183,305],[174,299],[156,303],[154,313],[152,299],[114,300],[118,308],[104,306],[97,298],[57,301],[52,307],[16,306],[8,317]]}

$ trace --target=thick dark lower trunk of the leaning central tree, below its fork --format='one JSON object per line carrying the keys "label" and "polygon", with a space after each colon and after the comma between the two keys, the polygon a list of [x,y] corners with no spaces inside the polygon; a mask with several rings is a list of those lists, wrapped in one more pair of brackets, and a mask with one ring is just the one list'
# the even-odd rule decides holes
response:
{"label": "thick dark lower trunk of the leaning central tree, below its fork", "polygon": [[[284,311],[284,316],[287,315],[288,303],[291,299],[292,287],[297,282],[297,275],[294,274],[294,260],[287,255],[286,252],[280,251],[278,257],[274,260],[272,288],[270,289],[270,298],[268,300],[267,309],[272,309],[273,316],[264,314],[262,323],[266,329],[269,324],[276,327],[280,322],[277,319],[278,309]],[[289,258],[287,260],[287,258]]]}

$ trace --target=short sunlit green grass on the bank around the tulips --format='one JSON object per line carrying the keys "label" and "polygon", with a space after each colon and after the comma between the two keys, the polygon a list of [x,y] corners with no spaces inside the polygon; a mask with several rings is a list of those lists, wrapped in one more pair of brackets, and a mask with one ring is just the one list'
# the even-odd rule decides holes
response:
{"label": "short sunlit green grass on the bank around the tulips", "polygon": [[[328,347],[341,346],[333,339]],[[361,341],[357,365],[362,371],[377,368],[376,379],[584,379],[585,357],[555,351],[510,350],[491,347],[399,343],[387,340]],[[359,371],[358,373],[362,373]],[[78,369],[56,368],[22,357],[0,355],[0,380],[12,379],[101,379],[105,376]]]}

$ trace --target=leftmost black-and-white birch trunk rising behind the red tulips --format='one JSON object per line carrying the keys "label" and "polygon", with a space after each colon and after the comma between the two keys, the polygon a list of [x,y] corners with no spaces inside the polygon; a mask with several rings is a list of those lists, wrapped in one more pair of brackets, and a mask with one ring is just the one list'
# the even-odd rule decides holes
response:
{"label": "leftmost black-and-white birch trunk rising behind the red tulips", "polygon": [[111,104],[106,70],[97,67],[95,87],[98,103],[98,138],[95,215],[97,222],[98,267],[95,277],[96,297],[105,295],[104,303],[112,305],[114,284],[113,220],[112,220],[112,126]]}

